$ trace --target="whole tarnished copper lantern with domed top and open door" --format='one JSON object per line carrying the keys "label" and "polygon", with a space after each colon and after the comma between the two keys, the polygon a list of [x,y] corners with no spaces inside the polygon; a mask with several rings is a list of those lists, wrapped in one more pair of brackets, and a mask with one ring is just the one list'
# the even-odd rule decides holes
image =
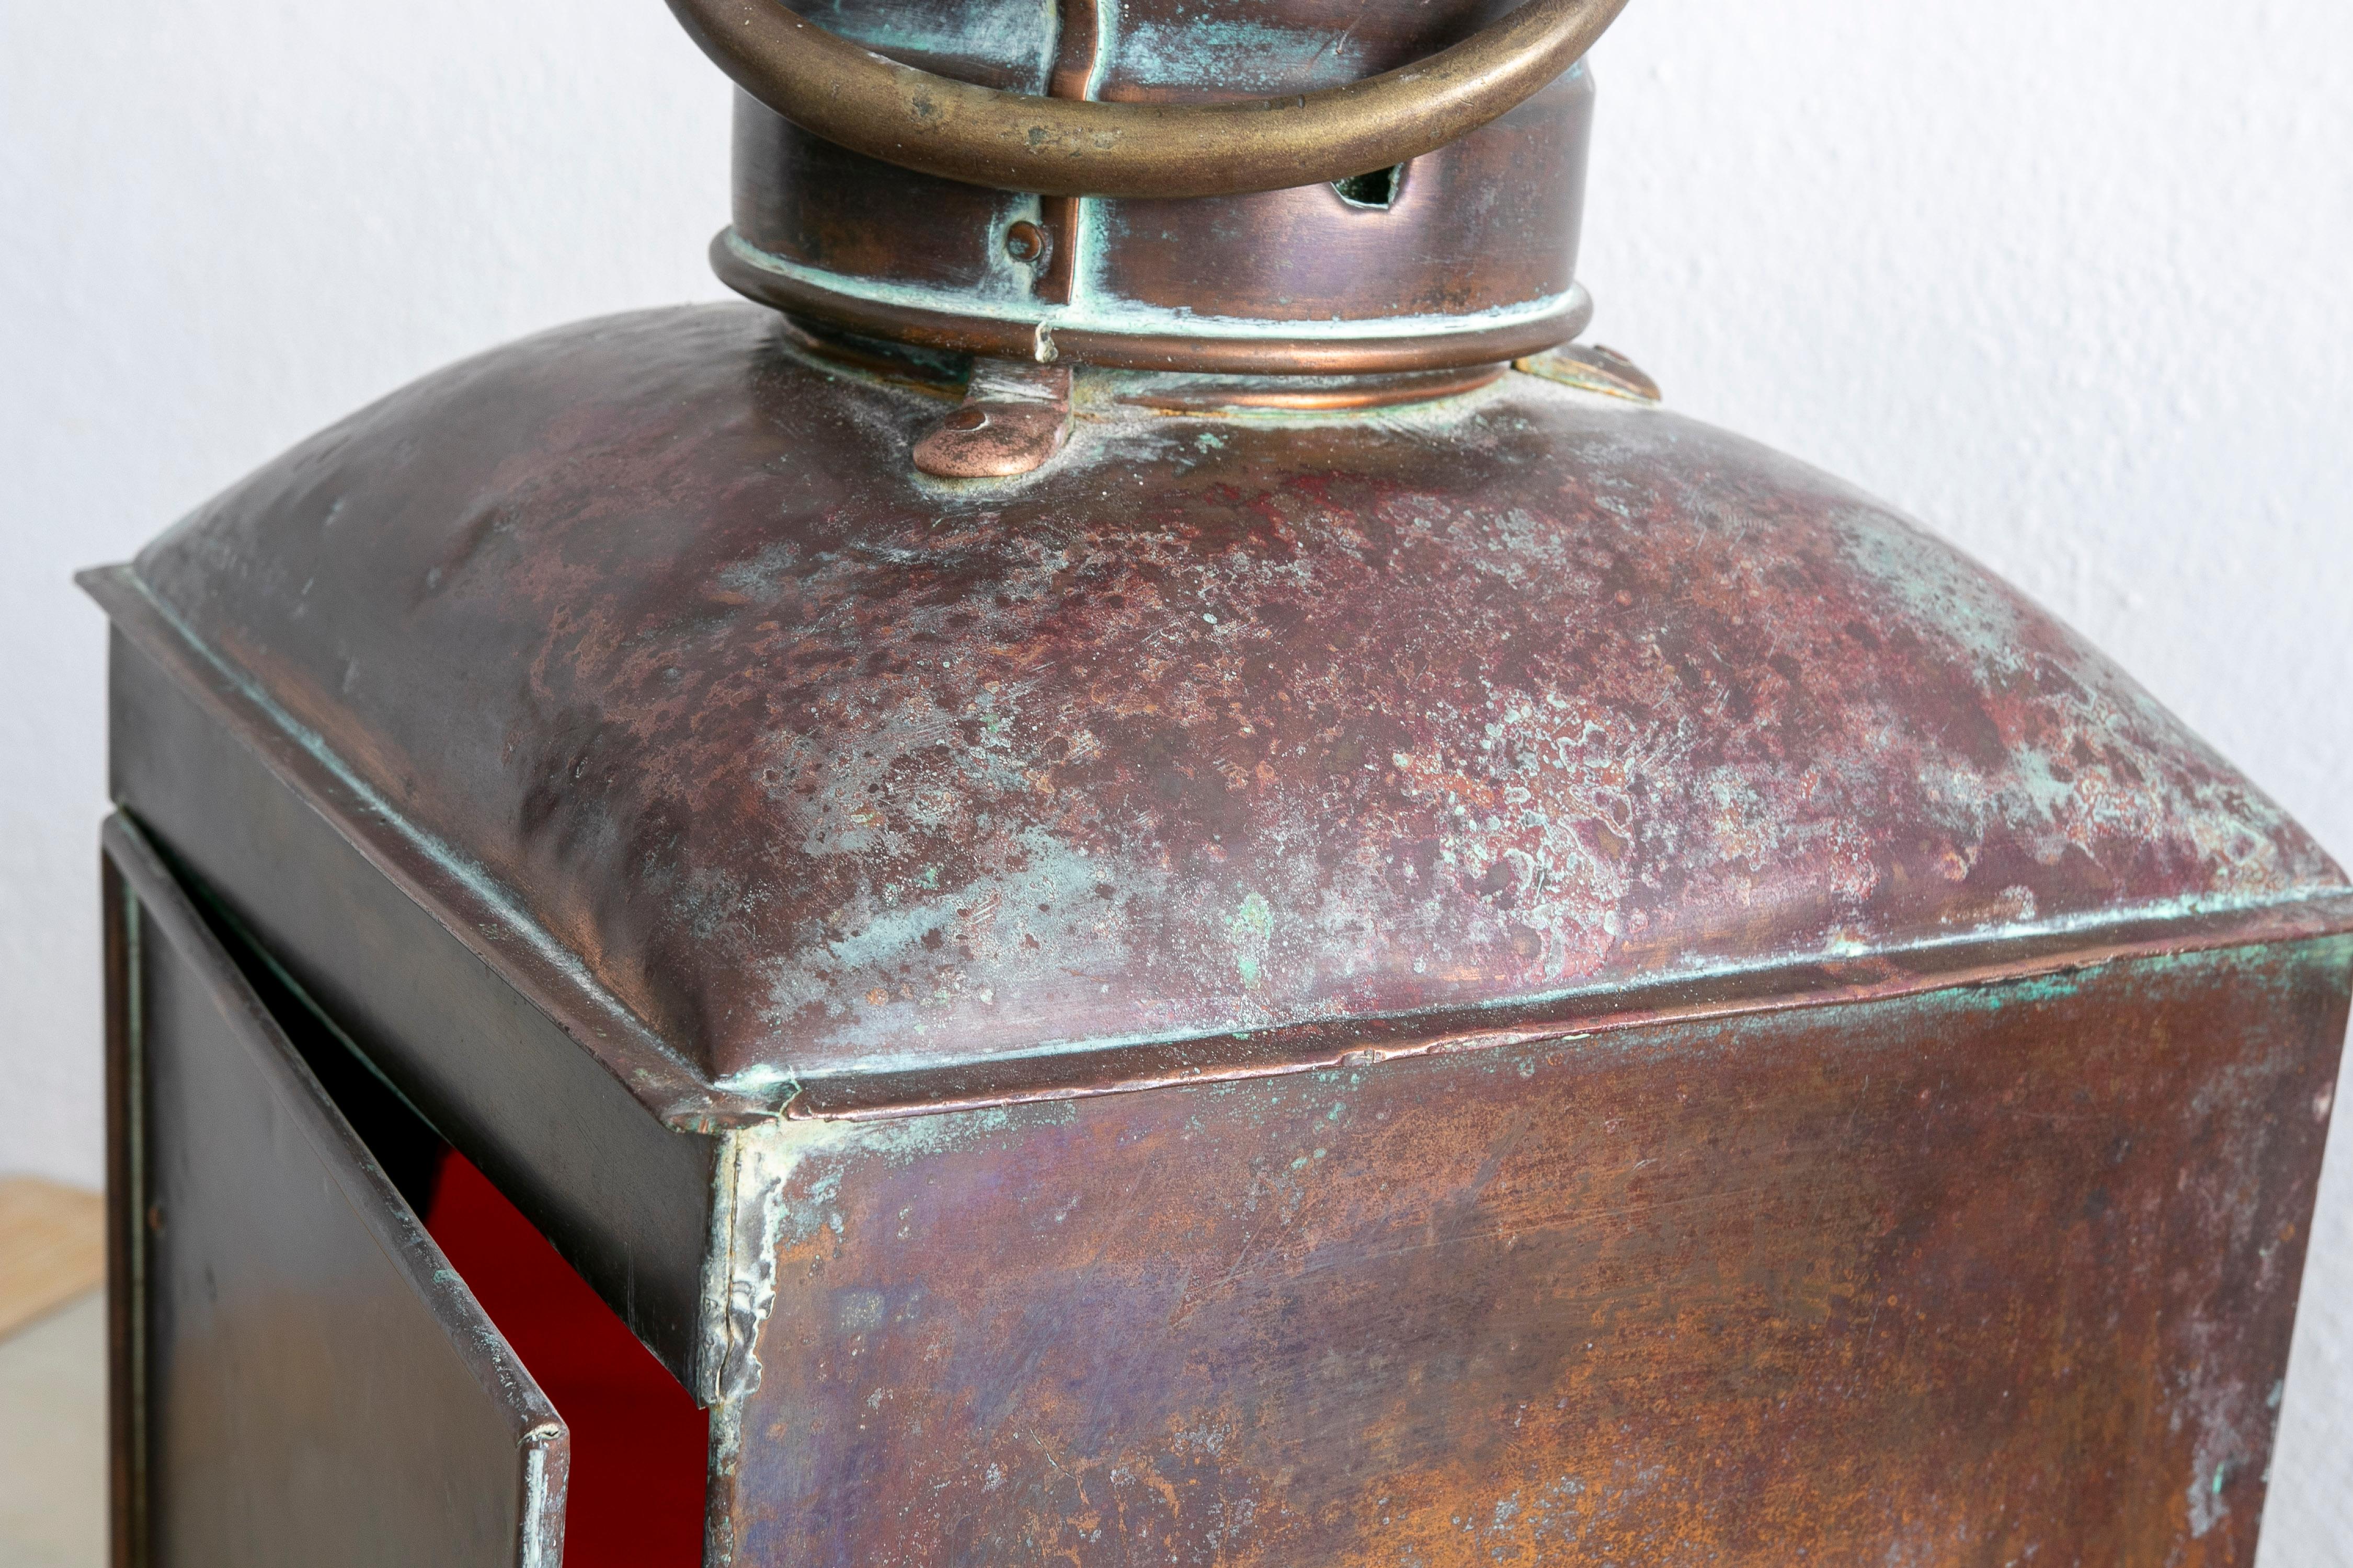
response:
{"label": "whole tarnished copper lantern with domed top and open door", "polygon": [[852,108],[678,9],[755,303],[87,578],[125,1561],[567,1552],[372,1093],[708,1408],[711,1563],[2252,1561],[2353,891],[1562,348],[1581,66],[1346,120],[1614,5],[849,5]]}

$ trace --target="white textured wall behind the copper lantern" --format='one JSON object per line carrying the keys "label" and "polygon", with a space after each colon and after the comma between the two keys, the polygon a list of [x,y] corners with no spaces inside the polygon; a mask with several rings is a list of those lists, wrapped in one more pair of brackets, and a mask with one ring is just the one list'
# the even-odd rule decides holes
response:
{"label": "white textured wall behind the copper lantern", "polygon": [[[1635,0],[1595,336],[1932,520],[2353,853],[2353,9]],[[99,1173],[101,623],[299,435],[715,296],[725,89],[656,0],[0,0],[0,1171]],[[2353,1563],[2337,1138],[2271,1568]]]}

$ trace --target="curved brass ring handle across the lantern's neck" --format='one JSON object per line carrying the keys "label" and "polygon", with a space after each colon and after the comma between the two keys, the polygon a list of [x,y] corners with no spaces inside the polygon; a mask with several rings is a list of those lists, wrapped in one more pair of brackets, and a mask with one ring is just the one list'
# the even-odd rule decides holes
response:
{"label": "curved brass ring handle across the lantern's neck", "polygon": [[1104,103],[882,59],[774,0],[671,0],[744,92],[854,153],[1038,195],[1240,195],[1400,165],[1574,66],[1626,0],[1529,0],[1414,66],[1287,99]]}

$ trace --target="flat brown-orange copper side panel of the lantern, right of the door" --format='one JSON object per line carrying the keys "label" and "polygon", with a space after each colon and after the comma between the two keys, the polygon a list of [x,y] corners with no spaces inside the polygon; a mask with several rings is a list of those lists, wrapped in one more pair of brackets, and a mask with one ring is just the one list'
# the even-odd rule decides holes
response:
{"label": "flat brown-orange copper side panel of the lantern, right of the door", "polygon": [[2252,1563],[2353,943],[784,1124],[734,1563]]}

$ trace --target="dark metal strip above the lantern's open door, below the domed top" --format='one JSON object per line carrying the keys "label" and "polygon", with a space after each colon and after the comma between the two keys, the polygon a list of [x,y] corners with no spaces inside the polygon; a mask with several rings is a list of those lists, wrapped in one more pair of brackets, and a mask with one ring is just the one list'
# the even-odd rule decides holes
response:
{"label": "dark metal strip above the lantern's open door, below the domed top", "polygon": [[85,581],[118,625],[113,797],[680,1382],[713,1396],[718,1150],[692,1133],[772,1107],[713,1091],[471,863],[405,832],[176,639],[127,571]]}

